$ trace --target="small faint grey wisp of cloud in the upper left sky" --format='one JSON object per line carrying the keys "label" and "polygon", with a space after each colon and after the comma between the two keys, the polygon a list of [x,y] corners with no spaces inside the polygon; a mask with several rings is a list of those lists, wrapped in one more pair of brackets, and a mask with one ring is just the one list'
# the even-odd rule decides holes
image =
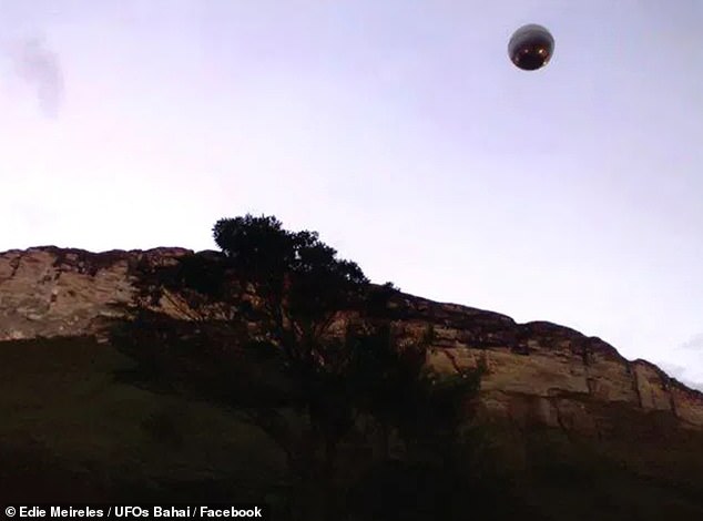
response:
{"label": "small faint grey wisp of cloud in the upper left sky", "polygon": [[64,92],[59,55],[47,47],[42,37],[11,42],[9,55],[14,72],[34,90],[42,113],[58,118]]}

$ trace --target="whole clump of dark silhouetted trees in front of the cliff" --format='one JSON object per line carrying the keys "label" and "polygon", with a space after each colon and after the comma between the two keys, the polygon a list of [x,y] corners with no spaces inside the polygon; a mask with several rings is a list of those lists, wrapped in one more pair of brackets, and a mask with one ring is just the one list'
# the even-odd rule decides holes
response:
{"label": "whole clump of dark silhouetted trees in front of the cliff", "polygon": [[[370,285],[317,234],[251,215],[214,234],[222,255],[140,266],[133,319],[113,335],[140,361],[123,377],[220,403],[265,432],[285,454],[281,515],[459,515],[470,491],[460,431],[480,371],[429,370],[432,331],[403,343],[378,316],[397,289]],[[191,320],[160,323],[147,307],[164,298]],[[343,313],[355,318],[334,335]],[[375,497],[378,476],[398,499]]]}

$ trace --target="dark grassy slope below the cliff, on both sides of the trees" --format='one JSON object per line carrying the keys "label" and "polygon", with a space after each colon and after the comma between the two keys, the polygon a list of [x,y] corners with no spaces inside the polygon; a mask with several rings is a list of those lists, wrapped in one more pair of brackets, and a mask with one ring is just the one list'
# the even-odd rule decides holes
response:
{"label": "dark grassy slope below the cliff, on both sides of the trees", "polygon": [[[113,372],[130,365],[90,338],[0,344],[0,502],[261,501],[283,479],[283,454],[262,431],[216,406],[120,384]],[[700,439],[653,454],[656,442],[506,432],[493,439],[531,505],[520,519],[703,519],[703,456],[690,458],[703,454]]]}

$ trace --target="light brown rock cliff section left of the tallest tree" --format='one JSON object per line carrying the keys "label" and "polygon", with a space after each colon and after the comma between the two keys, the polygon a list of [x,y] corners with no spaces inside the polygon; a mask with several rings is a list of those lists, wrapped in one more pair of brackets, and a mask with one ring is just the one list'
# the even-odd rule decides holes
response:
{"label": "light brown rock cliff section left of the tallest tree", "polygon": [[169,262],[184,248],[99,254],[53,246],[0,254],[0,340],[100,334],[111,305],[132,297],[137,262]]}

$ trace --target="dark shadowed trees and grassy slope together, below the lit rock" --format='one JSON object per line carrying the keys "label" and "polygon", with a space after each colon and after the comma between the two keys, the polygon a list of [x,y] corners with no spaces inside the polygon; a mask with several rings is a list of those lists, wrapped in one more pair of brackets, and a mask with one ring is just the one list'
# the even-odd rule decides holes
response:
{"label": "dark shadowed trees and grassy slope together, below the lit rock", "polygon": [[282,520],[701,519],[703,487],[679,479],[703,468],[700,438],[648,454],[631,436],[478,421],[482,368],[429,370],[432,330],[384,319],[393,284],[274,217],[214,234],[220,253],[135,267],[110,344],[2,344],[0,500],[265,501]]}

